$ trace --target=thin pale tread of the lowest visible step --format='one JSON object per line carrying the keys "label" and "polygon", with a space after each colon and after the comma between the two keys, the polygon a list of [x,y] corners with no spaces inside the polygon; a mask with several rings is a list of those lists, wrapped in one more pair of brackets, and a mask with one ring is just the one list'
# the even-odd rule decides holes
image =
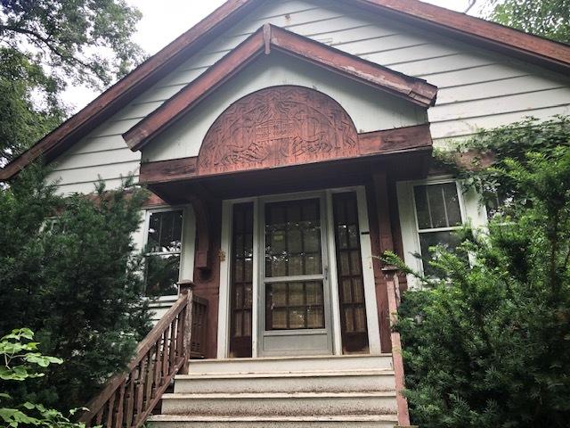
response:
{"label": "thin pale tread of the lowest visible step", "polygon": [[199,416],[199,415],[154,415],[155,422],[396,422],[397,415],[327,415],[327,416]]}

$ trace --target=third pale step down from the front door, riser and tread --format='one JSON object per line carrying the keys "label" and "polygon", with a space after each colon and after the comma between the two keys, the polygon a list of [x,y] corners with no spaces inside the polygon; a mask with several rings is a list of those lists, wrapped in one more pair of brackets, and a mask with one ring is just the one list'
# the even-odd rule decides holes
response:
{"label": "third pale step down from the front door, riser and tread", "polygon": [[334,416],[396,413],[395,391],[165,394],[163,415]]}

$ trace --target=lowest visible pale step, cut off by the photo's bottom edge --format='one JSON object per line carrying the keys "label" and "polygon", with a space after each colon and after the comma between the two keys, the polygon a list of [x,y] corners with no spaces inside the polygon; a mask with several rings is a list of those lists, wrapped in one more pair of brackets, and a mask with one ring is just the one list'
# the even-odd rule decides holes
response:
{"label": "lowest visible pale step, cut off by the photo's bottom edge", "polygon": [[393,428],[395,415],[350,416],[187,416],[149,418],[156,428]]}

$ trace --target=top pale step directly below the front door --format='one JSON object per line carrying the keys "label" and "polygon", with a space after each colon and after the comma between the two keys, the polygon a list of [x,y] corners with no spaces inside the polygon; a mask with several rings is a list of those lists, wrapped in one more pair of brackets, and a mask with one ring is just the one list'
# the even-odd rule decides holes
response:
{"label": "top pale step directly below the front door", "polygon": [[192,359],[189,374],[392,369],[392,354]]}

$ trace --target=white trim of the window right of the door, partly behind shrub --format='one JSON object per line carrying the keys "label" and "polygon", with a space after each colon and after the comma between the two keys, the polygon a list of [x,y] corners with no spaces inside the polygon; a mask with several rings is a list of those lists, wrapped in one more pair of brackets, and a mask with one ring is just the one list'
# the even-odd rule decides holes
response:
{"label": "white trim of the window right of the door, partly behind shrub", "polygon": [[[419,234],[428,232],[444,232],[457,230],[460,226],[436,227],[423,229],[419,232],[418,211],[413,188],[418,185],[441,185],[444,183],[455,183],[458,190],[460,202],[460,213],[462,224],[470,223],[475,228],[485,228],[487,216],[485,204],[478,193],[473,189],[466,191],[460,180],[452,176],[428,177],[424,180],[400,181],[396,183],[398,197],[398,210],[400,213],[400,225],[402,229],[403,261],[416,272],[423,273],[423,264],[414,254],[420,254]],[[409,275],[408,286],[410,288],[419,287],[417,278]]]}

